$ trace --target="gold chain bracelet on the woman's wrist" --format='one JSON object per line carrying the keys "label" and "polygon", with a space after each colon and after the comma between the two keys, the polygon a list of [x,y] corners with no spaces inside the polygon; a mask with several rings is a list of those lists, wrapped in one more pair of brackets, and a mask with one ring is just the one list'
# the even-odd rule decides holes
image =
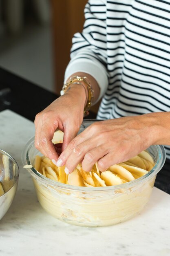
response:
{"label": "gold chain bracelet on the woman's wrist", "polygon": [[70,77],[68,82],[64,83],[64,85],[62,87],[62,91],[60,92],[60,94],[63,95],[67,91],[68,87],[70,85],[72,85],[73,83],[74,84],[82,84],[81,82],[83,82],[86,85],[87,90],[88,90],[87,104],[86,104],[86,106],[84,108],[84,117],[86,117],[89,114],[89,110],[90,110],[91,105],[93,103],[93,97],[94,97],[93,88],[91,87],[91,83],[88,81],[86,76],[84,76],[84,77],[81,77],[81,76]]}

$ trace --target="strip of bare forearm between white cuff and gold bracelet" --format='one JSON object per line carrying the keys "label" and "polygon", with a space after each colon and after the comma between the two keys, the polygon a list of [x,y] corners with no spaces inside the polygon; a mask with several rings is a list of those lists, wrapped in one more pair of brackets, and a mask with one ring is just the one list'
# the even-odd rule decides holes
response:
{"label": "strip of bare forearm between white cuff and gold bracelet", "polygon": [[[91,83],[91,86],[93,88],[93,91],[94,91],[94,98],[93,98],[93,104],[97,102],[98,98],[99,98],[99,94],[100,94],[100,88],[99,88],[99,85],[97,83],[97,81],[94,79],[93,76],[91,76],[90,74],[87,74],[87,73],[84,73],[84,72],[76,72],[74,74],[71,75],[72,76],[86,76],[87,79],[90,81]],[[67,81],[69,80],[69,77],[67,79]],[[79,86],[79,85],[77,85]],[[75,89],[75,92],[76,92],[76,87],[74,87]]]}

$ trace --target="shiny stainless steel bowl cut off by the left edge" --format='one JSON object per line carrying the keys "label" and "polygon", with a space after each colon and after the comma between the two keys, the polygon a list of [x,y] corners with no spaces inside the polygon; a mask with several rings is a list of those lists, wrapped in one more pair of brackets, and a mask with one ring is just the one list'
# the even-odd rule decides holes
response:
{"label": "shiny stainless steel bowl cut off by the left edge", "polygon": [[0,220],[7,213],[15,196],[19,177],[19,167],[17,162],[0,149],[0,183],[4,194],[0,196]]}

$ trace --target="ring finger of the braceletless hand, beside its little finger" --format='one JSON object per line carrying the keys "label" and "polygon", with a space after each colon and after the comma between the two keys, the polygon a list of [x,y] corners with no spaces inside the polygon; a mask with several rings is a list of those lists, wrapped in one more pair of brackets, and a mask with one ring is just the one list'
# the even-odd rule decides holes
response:
{"label": "ring finger of the braceletless hand, beside its little finger", "polygon": [[93,165],[106,154],[108,154],[108,148],[105,145],[98,146],[88,151],[82,162],[83,170],[87,172],[91,171]]}

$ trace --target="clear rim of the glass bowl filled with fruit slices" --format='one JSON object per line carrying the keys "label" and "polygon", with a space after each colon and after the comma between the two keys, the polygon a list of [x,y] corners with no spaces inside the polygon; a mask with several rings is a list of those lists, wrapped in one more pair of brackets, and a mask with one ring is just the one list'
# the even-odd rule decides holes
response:
{"label": "clear rim of the glass bowl filled with fruit slices", "polygon": [[[86,123],[87,121],[103,121],[103,120],[86,119],[83,121],[83,123]],[[29,160],[28,153],[29,153],[29,150],[31,149],[31,147],[34,145],[34,138],[35,137],[33,136],[31,139],[29,139],[29,141],[26,143],[26,145],[24,147],[24,150],[22,151],[21,158],[22,158],[22,163],[24,165],[32,165]],[[133,181],[124,183],[124,184],[120,184],[120,185],[113,185],[113,186],[106,186],[106,187],[92,187],[92,188],[84,187],[84,186],[83,187],[73,186],[73,185],[68,185],[68,184],[57,182],[57,181],[53,181],[53,180],[45,177],[38,171],[36,171],[34,167],[26,168],[26,169],[31,174],[31,176],[38,179],[39,182],[44,182],[48,186],[53,186],[53,187],[64,189],[64,190],[81,191],[81,192],[97,192],[97,191],[113,191],[113,190],[128,189],[132,186],[146,182],[146,180],[155,176],[163,167],[163,165],[166,161],[166,152],[165,152],[163,145],[151,145],[150,147],[156,147],[158,150],[159,157],[157,159],[155,166],[148,173],[143,175],[142,177],[135,179]]]}

